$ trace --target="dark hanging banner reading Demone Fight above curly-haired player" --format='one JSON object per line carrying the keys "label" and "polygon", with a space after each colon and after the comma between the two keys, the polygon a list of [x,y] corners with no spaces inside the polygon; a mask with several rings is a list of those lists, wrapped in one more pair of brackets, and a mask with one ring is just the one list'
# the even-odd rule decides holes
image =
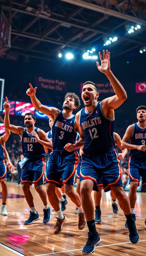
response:
{"label": "dark hanging banner reading Demone Fight above curly-haired player", "polygon": [[52,91],[67,91],[67,82],[57,79],[48,79],[44,77],[35,77],[35,86]]}

